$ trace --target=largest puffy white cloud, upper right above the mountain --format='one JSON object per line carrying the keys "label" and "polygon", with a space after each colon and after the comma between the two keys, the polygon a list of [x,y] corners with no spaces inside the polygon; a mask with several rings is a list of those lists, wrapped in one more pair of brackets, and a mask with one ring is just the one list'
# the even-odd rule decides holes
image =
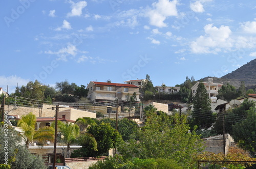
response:
{"label": "largest puffy white cloud, upper right above the mountain", "polygon": [[196,41],[191,42],[190,48],[193,53],[217,53],[221,50],[228,50],[232,47],[230,38],[231,30],[228,26],[204,26],[204,36],[200,36]]}

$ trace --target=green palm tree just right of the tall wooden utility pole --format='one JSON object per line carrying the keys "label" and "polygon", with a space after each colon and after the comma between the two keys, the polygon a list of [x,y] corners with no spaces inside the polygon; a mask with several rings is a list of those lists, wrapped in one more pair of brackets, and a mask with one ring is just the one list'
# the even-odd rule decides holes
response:
{"label": "green palm tree just right of the tall wooden utility pole", "polygon": [[[53,125],[55,125],[55,123],[52,123],[52,126]],[[61,134],[61,142],[67,145],[67,158],[70,158],[70,146],[77,141],[77,137],[80,133],[79,127],[76,124],[65,124],[58,121],[58,131]]]}

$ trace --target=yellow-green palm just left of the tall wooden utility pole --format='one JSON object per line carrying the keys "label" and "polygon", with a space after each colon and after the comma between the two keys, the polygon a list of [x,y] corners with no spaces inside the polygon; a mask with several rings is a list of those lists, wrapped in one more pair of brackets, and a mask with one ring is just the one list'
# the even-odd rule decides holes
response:
{"label": "yellow-green palm just left of the tall wooden utility pole", "polygon": [[18,121],[17,126],[21,127],[23,132],[20,133],[22,136],[25,146],[28,148],[29,144],[33,141],[37,141],[40,144],[45,143],[46,140],[54,139],[54,128],[45,126],[40,127],[38,130],[35,130],[36,117],[30,112],[28,115],[23,116],[22,119]]}

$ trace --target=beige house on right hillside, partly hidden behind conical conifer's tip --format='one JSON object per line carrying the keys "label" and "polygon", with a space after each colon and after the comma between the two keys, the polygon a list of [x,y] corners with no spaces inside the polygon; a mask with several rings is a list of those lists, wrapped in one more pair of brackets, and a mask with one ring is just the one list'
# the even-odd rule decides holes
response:
{"label": "beige house on right hillside, partly hidden behind conical conifer's tip", "polygon": [[[220,90],[223,85],[222,83],[214,83],[212,78],[208,78],[208,82],[203,82],[203,83],[207,90],[207,93],[209,94],[209,98],[216,97],[216,95],[218,94],[218,90]],[[191,88],[193,96],[196,95],[198,85],[199,85],[199,82],[197,82]]]}

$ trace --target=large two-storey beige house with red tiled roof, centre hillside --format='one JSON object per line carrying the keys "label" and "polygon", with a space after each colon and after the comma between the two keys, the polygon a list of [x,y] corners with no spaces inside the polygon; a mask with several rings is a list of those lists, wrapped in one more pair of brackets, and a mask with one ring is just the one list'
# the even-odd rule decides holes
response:
{"label": "large two-storey beige house with red tiled roof, centre hillside", "polygon": [[111,101],[116,99],[125,101],[127,94],[132,96],[134,92],[136,93],[137,101],[140,101],[139,87],[135,85],[91,81],[87,86],[87,89],[89,90],[88,98],[92,102]]}

